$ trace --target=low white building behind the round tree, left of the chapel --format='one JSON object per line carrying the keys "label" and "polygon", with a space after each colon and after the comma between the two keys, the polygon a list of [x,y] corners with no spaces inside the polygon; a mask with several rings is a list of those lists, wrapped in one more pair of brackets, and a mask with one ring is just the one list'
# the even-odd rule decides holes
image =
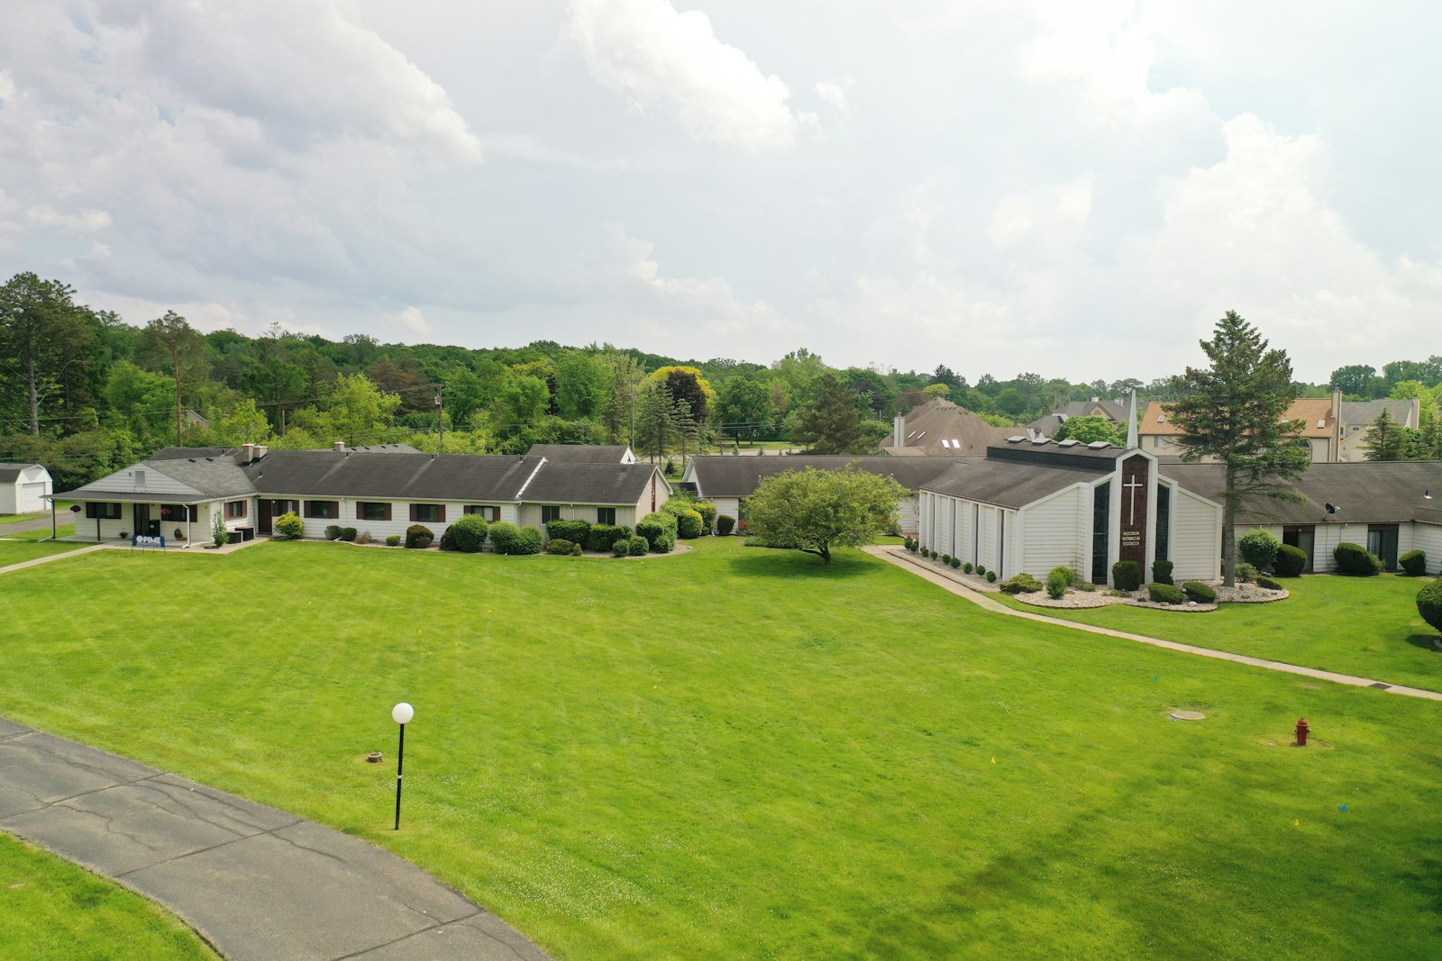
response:
{"label": "low white building behind the round tree, left of the chapel", "polygon": [[[953,405],[955,406],[955,405]],[[897,501],[901,514],[901,530],[913,533],[917,529],[916,493],[927,481],[939,477],[965,457],[857,457],[848,454],[786,454],[777,457],[734,457],[731,454],[702,454],[691,458],[682,486],[692,484],[696,497],[717,507],[718,514],[746,519],[746,499],[756,493],[760,483],[782,471],[816,470],[839,471],[855,464],[871,474],[891,477],[911,491],[910,497]]]}

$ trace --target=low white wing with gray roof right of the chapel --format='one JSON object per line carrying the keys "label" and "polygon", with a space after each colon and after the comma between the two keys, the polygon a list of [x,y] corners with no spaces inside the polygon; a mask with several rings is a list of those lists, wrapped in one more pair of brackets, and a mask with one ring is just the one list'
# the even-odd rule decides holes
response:
{"label": "low white wing with gray roof right of the chapel", "polygon": [[[1217,464],[1167,464],[1169,475],[1207,497],[1221,493]],[[1308,571],[1332,571],[1341,542],[1367,547],[1389,571],[1409,550],[1428,552],[1428,571],[1442,568],[1442,462],[1361,461],[1312,464],[1288,487],[1302,501],[1257,499],[1237,523],[1240,540],[1265,527],[1278,540],[1301,547]],[[1328,511],[1331,504],[1335,511]]]}

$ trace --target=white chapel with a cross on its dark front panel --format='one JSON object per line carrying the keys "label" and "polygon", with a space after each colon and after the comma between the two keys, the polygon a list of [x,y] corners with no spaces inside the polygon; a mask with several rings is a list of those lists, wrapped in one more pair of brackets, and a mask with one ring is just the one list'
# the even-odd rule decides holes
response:
{"label": "white chapel with a cross on its dark front panel", "polygon": [[1155,559],[1177,581],[1220,575],[1221,504],[1135,448],[1014,438],[924,484],[920,506],[923,547],[1001,579],[1060,566],[1109,584],[1135,560],[1151,581]]}

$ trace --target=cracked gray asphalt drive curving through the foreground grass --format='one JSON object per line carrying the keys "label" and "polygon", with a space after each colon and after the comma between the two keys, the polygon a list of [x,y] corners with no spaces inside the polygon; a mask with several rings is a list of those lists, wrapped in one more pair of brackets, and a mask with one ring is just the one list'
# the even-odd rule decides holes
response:
{"label": "cracked gray asphalt drive curving through the foreground grass", "polygon": [[395,854],[0,718],[0,830],[151,898],[235,961],[548,961]]}

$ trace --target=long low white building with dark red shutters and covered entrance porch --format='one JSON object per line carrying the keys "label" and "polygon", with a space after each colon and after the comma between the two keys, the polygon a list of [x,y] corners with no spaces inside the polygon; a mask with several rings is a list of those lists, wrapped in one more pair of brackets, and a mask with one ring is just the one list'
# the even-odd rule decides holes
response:
{"label": "long low white building with dark red shutters and covered entrance porch", "polygon": [[[394,447],[394,445],[386,445]],[[395,450],[239,451],[167,448],[68,491],[84,507],[76,535],[159,533],[208,540],[219,513],[228,530],[270,535],[294,511],[304,536],[327,526],[372,537],[412,523],[437,535],[461,514],[542,524],[554,519],[634,526],[665,504],[671,486],[650,464],[557,464],[545,457],[420,454]]]}

